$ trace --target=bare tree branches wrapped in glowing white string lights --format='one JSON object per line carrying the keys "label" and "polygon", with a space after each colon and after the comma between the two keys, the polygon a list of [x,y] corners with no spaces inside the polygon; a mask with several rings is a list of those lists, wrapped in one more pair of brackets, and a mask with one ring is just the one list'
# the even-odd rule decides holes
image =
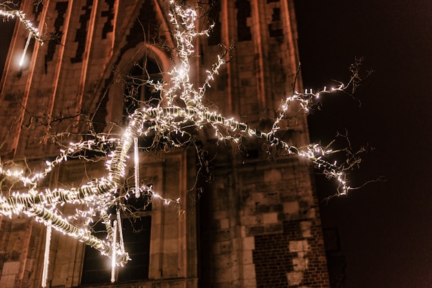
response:
{"label": "bare tree branches wrapped in glowing white string lights", "polygon": [[[261,132],[249,127],[246,123],[235,121],[232,118],[228,119],[216,112],[210,112],[208,107],[202,103],[202,99],[206,89],[210,88],[210,82],[219,73],[222,65],[226,63],[224,60],[226,54],[218,56],[217,62],[213,64],[211,70],[208,70],[202,87],[197,88],[197,90],[193,88],[193,84],[190,83],[189,79],[189,60],[194,52],[193,43],[197,37],[208,35],[209,30],[204,30],[204,32],[196,31],[197,10],[177,5],[173,0],[170,1],[170,4],[172,6],[170,21],[173,24],[173,35],[177,42],[177,65],[168,72],[170,75],[168,83],[146,82],[161,92],[161,97],[166,100],[161,101],[161,103],[167,103],[165,107],[144,107],[136,110],[129,116],[128,126],[120,137],[96,135],[94,140],[70,143],[69,147],[60,150],[59,156],[55,160],[46,161],[46,168],[43,172],[27,173],[26,176],[24,171],[6,169],[0,165],[0,175],[15,179],[28,187],[28,193],[12,192],[8,197],[0,196],[0,214],[12,217],[13,214],[23,212],[47,227],[52,227],[98,249],[101,254],[112,258],[112,281],[115,280],[115,266],[124,265],[129,260],[129,257],[123,245],[121,209],[117,209],[117,220],[114,223],[109,220],[107,211],[109,207],[119,205],[119,198],[116,193],[123,185],[126,174],[126,161],[130,150],[134,152],[135,189],[132,193],[135,194],[135,197],[146,194],[152,196],[153,199],[162,200],[167,205],[170,203],[180,204],[180,198],[164,198],[161,194],[155,192],[153,187],[139,183],[139,152],[137,147],[139,137],[152,135],[155,139],[153,142],[155,149],[160,142],[168,143],[171,147],[180,147],[185,145],[186,142],[193,142],[191,137],[182,142],[176,140],[173,136],[175,134],[181,136],[190,135],[186,128],[191,125],[194,125],[197,130],[204,127],[204,125],[213,127],[215,136],[221,141],[238,143],[242,137],[257,137],[269,145],[286,152],[286,154],[296,154],[314,163],[317,168],[324,171],[324,174],[335,178],[339,182],[340,194],[346,194],[351,189],[346,183],[344,166],[329,163],[325,160],[328,154],[333,153],[332,150],[327,150],[318,144],[295,147],[276,135],[277,130],[280,129],[279,122],[286,117],[293,103],[300,104],[302,112],[308,112],[311,105],[320,95],[344,91],[344,86],[341,85],[331,90],[324,88],[319,92],[312,92],[312,90],[309,92],[306,90],[304,93],[295,92],[293,95],[286,97],[282,101],[279,115],[269,132]],[[29,30],[30,35],[35,38],[39,37],[37,29],[33,28],[30,22],[23,21],[22,12],[0,10],[0,16],[19,17],[26,29]],[[41,41],[40,38],[38,40]],[[150,132],[152,133],[150,134]],[[85,150],[104,151],[106,153],[106,176],[93,179],[80,187],[46,189],[44,192],[39,192],[37,189],[39,181],[52,172],[54,167]],[[76,209],[75,214],[62,216],[57,209],[57,205],[64,205],[65,203],[79,205],[84,208]],[[93,221],[92,218],[97,214],[99,214],[106,226],[108,232],[106,240],[92,236],[90,232],[89,227]],[[81,220],[81,223],[85,224],[79,227],[73,224],[75,220]]]}

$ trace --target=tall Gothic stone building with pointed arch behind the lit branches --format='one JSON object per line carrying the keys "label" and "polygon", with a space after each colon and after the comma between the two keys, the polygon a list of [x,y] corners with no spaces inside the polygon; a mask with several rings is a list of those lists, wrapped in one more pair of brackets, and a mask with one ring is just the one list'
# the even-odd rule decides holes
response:
{"label": "tall Gothic stone building with pointed arch behind the lit branches", "polygon": [[[173,47],[174,39],[167,29],[166,0],[34,2],[22,0],[21,10],[57,37],[44,45],[32,39],[19,66],[28,32],[16,24],[0,83],[0,155],[3,161],[25,157],[38,167],[59,150],[46,136],[46,123],[49,131],[68,131],[59,135],[64,143],[77,140],[83,128],[78,120],[88,115],[98,132],[106,129],[104,123],[124,123],[129,111],[118,75],[166,77],[173,63],[166,47]],[[204,2],[209,4],[202,4],[200,23],[214,19],[215,28],[195,43],[194,82],[202,83],[216,61],[222,51],[218,44],[234,42],[232,61],[208,90],[209,103],[266,130],[295,83],[299,56],[293,1]],[[301,88],[300,79],[295,85]],[[149,90],[138,94],[157,101]],[[306,119],[300,116],[284,133],[297,145],[308,143]],[[213,158],[212,181],[197,181],[193,149],[143,157],[143,181],[170,198],[180,197],[186,212],[177,216],[175,207],[154,200],[135,222],[140,233],[132,233],[124,221],[132,260],[119,269],[117,282],[109,282],[108,258],[53,232],[48,287],[328,287],[310,167],[295,156],[270,157],[253,139],[239,151],[215,145],[205,133],[199,136]],[[104,174],[103,164],[98,165],[67,161],[40,186],[85,183],[88,174]],[[63,209],[67,214],[73,208]],[[35,220],[1,217],[0,287],[40,287],[45,237],[45,226]]]}

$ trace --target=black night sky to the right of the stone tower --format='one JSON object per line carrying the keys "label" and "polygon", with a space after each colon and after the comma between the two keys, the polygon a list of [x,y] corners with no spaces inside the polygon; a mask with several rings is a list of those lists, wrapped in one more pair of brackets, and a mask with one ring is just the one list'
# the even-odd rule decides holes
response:
{"label": "black night sky to the right of the stone tower", "polygon": [[[324,101],[309,116],[311,139],[348,130],[369,143],[355,183],[322,201],[324,227],[337,228],[346,287],[432,287],[432,1],[296,0],[305,88],[346,81],[355,56],[375,72],[355,96]],[[334,187],[317,179],[321,198]]]}

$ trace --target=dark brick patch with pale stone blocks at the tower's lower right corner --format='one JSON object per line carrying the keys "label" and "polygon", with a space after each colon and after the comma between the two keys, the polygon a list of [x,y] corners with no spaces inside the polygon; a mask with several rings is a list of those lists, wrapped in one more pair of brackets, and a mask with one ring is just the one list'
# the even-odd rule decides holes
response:
{"label": "dark brick patch with pale stone blocks at the tower's lower right corner", "polygon": [[[324,243],[311,221],[283,221],[283,232],[255,236],[257,287],[328,287]],[[318,229],[317,229],[318,227]]]}

